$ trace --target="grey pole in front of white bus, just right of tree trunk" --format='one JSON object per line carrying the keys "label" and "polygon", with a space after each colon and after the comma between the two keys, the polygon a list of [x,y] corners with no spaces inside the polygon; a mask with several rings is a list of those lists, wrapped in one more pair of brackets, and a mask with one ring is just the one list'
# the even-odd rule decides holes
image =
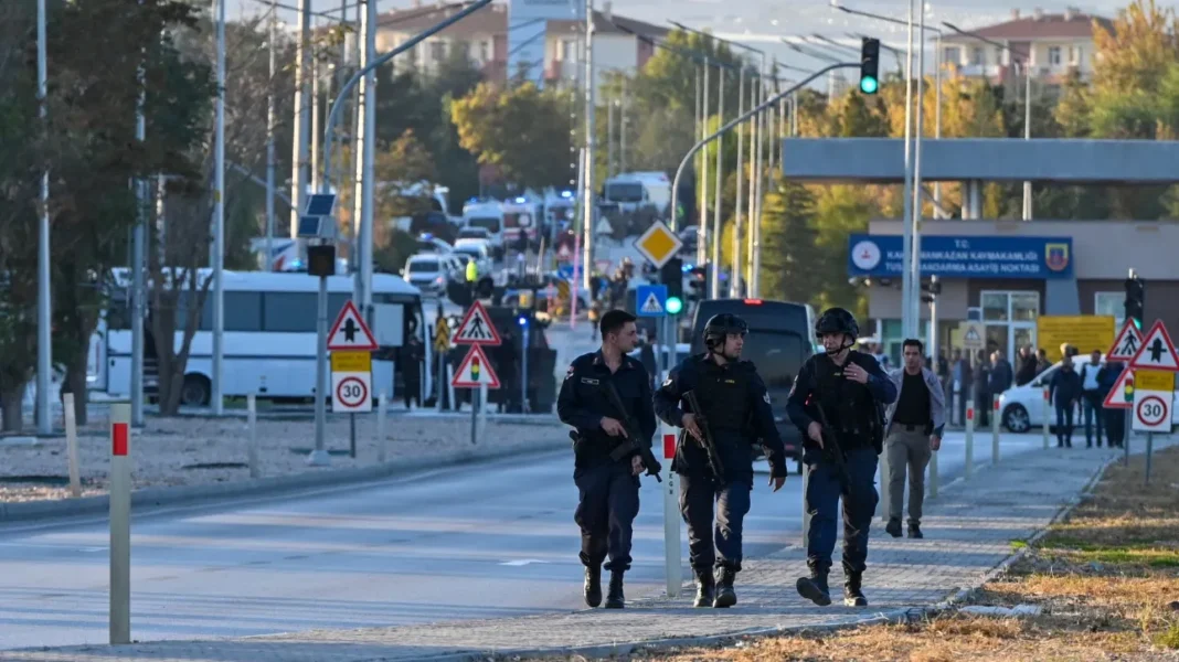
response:
{"label": "grey pole in front of white bus, just right of tree trunk", "polygon": [[217,130],[213,144],[213,416],[225,412],[222,397],[225,356],[225,2],[217,2]]}

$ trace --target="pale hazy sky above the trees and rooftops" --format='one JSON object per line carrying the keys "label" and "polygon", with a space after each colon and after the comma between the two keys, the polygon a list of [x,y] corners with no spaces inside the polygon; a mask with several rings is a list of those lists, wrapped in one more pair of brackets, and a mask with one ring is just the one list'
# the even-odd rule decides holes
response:
{"label": "pale hazy sky above the trees and rooftops", "polygon": [[[211,0],[210,0],[211,1]],[[356,0],[348,0],[349,5]],[[381,12],[408,8],[414,0],[378,0]],[[437,0],[435,0],[436,2]],[[908,14],[908,0],[837,0],[849,8],[903,19]],[[1113,16],[1129,0],[944,0],[926,2],[927,25],[941,27],[949,21],[970,29],[1010,19],[1013,9],[1029,15],[1040,7],[1046,13],[1061,13],[1066,7],[1081,12]],[[279,0],[295,6],[297,0]],[[423,0],[423,4],[429,4]],[[1166,0],[1160,2],[1167,5]],[[265,12],[270,0],[229,0],[226,6],[231,20],[241,15]],[[311,0],[315,11],[335,9],[340,0]],[[602,9],[604,0],[594,0],[594,7]],[[791,66],[814,68],[821,60],[802,55],[782,44],[782,38],[799,38],[821,34],[836,41],[854,44],[855,34],[877,37],[887,45],[903,47],[904,26],[891,25],[874,19],[845,14],[830,6],[830,0],[613,0],[612,11],[627,18],[645,20],[654,25],[667,25],[672,19],[693,28],[710,28],[724,39],[743,41],[766,51],[769,57]],[[349,9],[353,14],[355,9]],[[292,11],[279,9],[283,20],[294,21]],[[838,52],[836,49],[836,52]],[[931,58],[929,58],[931,60]],[[931,67],[927,64],[927,68]]]}

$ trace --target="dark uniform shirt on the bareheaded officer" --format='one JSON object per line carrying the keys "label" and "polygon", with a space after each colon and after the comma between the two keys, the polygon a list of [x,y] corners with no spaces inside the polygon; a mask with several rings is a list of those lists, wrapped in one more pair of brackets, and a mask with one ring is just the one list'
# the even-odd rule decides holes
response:
{"label": "dark uniform shirt on the bareheaded officer", "polygon": [[643,364],[624,356],[618,371],[612,375],[600,350],[581,355],[569,364],[556,398],[556,415],[561,423],[577,428],[582,438],[578,444],[578,466],[611,462],[611,450],[626,441],[621,436],[611,437],[601,429],[602,417],[625,425],[623,412],[611,405],[606,395],[604,386],[607,383],[614,384],[618,397],[626,408],[626,416],[631,417],[641,433],[641,439],[637,439],[637,443],[650,448],[651,437],[656,433],[656,416],[651,409],[651,377]]}

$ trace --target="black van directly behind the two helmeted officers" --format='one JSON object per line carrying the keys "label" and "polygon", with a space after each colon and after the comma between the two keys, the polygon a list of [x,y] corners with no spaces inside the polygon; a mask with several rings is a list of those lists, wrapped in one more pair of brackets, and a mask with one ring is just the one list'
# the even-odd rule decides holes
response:
{"label": "black van directly behind the two helmeted officers", "polygon": [[[802,462],[803,444],[798,429],[786,416],[786,396],[803,362],[812,353],[814,313],[805,304],[769,299],[709,299],[696,306],[692,318],[692,353],[704,351],[704,324],[710,317],[732,313],[749,324],[742,350],[743,360],[752,360],[770,392],[770,406],[786,455]],[[760,449],[756,449],[760,456]]]}

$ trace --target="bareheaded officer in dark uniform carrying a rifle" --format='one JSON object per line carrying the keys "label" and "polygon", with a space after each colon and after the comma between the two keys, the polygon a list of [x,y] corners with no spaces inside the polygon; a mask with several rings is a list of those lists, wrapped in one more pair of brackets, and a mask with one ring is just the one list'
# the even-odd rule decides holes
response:
{"label": "bareheaded officer in dark uniform carrying a rifle", "polygon": [[[611,451],[628,441],[651,448],[656,432],[651,409],[651,380],[643,364],[631,358],[639,340],[635,317],[624,310],[612,310],[601,318],[601,349],[581,355],[569,364],[556,399],[561,422],[577,428],[573,444],[573,482],[579,503],[573,519],[581,527],[581,563],[586,567],[585,600],[590,607],[601,604],[601,565],[610,555],[610,594],[607,609],[621,609],[623,574],[631,568],[631,536],[639,514],[639,474],[644,469],[658,475],[661,466],[645,466],[638,451],[619,461]],[[610,403],[604,386],[612,383],[626,408],[625,416],[641,435],[630,439],[624,412]]]}

